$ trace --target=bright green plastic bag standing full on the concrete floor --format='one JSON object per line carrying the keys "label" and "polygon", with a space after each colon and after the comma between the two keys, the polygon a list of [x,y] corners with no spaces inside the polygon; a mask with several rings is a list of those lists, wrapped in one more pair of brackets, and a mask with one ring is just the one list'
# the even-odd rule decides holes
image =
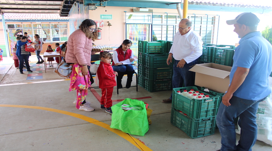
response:
{"label": "bright green plastic bag standing full on the concrete floor", "polygon": [[[121,105],[128,104],[131,106],[140,106],[142,110],[128,110],[124,111]],[[132,100],[126,98],[125,100],[112,106],[112,124],[111,128],[121,130],[131,135],[144,136],[149,129],[147,120],[147,112],[143,101]]]}

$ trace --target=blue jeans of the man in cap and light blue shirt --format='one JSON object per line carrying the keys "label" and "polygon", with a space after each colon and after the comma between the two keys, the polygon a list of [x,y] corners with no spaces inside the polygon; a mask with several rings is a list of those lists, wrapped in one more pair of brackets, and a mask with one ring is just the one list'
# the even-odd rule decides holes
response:
{"label": "blue jeans of the man in cap and light blue shirt", "polygon": [[[264,99],[252,101],[232,96],[228,107],[221,102],[216,116],[216,124],[222,137],[221,151],[251,151],[257,139],[256,113],[259,103]],[[236,145],[234,119],[238,116],[241,136]]]}

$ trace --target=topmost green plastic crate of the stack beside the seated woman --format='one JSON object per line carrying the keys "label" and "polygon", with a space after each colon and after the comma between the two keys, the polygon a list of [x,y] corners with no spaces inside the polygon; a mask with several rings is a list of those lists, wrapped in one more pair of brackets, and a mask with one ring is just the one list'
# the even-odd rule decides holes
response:
{"label": "topmost green plastic crate of the stack beside the seated woman", "polygon": [[155,41],[140,41],[138,42],[138,50],[141,53],[168,53],[166,50],[166,43],[159,43]]}

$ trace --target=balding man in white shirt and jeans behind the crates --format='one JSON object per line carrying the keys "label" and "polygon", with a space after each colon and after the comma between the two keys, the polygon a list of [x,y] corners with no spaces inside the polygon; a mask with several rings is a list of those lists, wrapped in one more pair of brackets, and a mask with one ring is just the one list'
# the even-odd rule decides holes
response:
{"label": "balding man in white shirt and jeans behind the crates", "polygon": [[[194,86],[195,72],[189,71],[194,64],[197,64],[197,59],[202,55],[202,40],[199,34],[193,31],[192,22],[189,19],[182,19],[178,25],[179,31],[175,34],[173,45],[170,49],[166,63],[173,63],[173,88],[179,88],[184,85]],[[162,101],[162,103],[171,103],[171,97]]]}

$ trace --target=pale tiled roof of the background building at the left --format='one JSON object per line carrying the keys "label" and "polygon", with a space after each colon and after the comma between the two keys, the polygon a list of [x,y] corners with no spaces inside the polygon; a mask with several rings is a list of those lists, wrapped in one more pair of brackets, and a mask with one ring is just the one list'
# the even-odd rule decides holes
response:
{"label": "pale tiled roof of the background building at the left", "polygon": [[[60,17],[59,14],[17,14],[5,13],[5,20],[68,20],[68,17]],[[2,17],[0,16],[2,19]]]}

